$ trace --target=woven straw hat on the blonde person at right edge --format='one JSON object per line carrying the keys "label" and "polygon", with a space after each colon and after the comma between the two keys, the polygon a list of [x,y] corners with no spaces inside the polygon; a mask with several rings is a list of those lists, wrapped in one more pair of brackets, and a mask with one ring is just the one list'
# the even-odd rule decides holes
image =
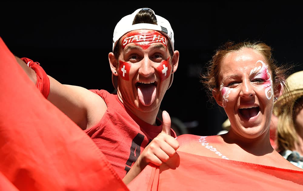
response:
{"label": "woven straw hat on the blonde person at right edge", "polygon": [[[295,72],[286,79],[291,100],[296,100],[303,95],[303,70]],[[274,113],[280,113],[281,107],[286,103],[283,96],[280,96],[274,103]]]}

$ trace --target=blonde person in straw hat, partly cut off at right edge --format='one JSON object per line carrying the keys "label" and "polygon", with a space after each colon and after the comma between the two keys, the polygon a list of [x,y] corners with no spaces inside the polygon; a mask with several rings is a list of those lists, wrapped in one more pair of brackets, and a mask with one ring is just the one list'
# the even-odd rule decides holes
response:
{"label": "blonde person in straw hat, partly cut off at right edge", "polygon": [[280,96],[274,104],[274,112],[278,115],[279,153],[303,168],[303,71],[289,75],[286,82],[289,93],[285,96],[288,99]]}

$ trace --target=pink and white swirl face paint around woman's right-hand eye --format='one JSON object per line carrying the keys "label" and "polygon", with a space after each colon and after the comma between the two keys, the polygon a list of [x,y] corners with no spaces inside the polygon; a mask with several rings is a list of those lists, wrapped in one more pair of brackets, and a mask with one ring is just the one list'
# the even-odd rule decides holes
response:
{"label": "pink and white swirl face paint around woman's right-hand eye", "polygon": [[249,75],[251,75],[254,72],[257,72],[254,79],[264,80],[264,83],[262,84],[262,86],[265,87],[266,98],[268,100],[270,100],[272,95],[274,95],[274,90],[272,88],[271,75],[268,72],[268,66],[262,60],[258,60],[256,62],[256,64],[258,62],[260,62],[262,64],[262,66],[258,66],[258,67],[255,67],[254,69],[252,69]]}

